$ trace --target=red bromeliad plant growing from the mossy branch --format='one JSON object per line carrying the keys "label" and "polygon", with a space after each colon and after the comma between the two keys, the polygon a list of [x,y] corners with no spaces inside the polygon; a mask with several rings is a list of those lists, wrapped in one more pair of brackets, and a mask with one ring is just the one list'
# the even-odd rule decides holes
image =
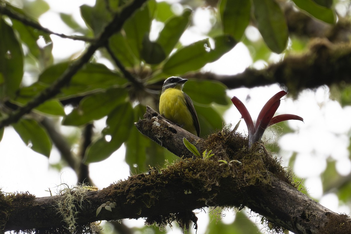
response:
{"label": "red bromeliad plant growing from the mossy branch", "polygon": [[280,91],[272,96],[272,98],[270,98],[261,109],[255,125],[253,124],[251,115],[249,111],[247,111],[243,102],[241,102],[236,96],[233,96],[231,100],[234,106],[240,112],[241,118],[245,120],[247,130],[249,131],[249,148],[251,148],[253,143],[261,140],[267,127],[275,123],[291,119],[304,121],[300,116],[293,114],[282,114],[273,117],[280,105],[280,98],[286,94],[287,92]]}

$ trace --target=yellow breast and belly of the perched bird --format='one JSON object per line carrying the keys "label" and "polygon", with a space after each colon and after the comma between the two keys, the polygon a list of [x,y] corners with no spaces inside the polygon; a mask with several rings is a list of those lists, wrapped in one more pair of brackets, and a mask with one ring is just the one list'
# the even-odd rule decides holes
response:
{"label": "yellow breast and belly of the perched bird", "polygon": [[173,123],[178,123],[188,132],[197,135],[193,117],[186,106],[183,91],[167,88],[160,97],[160,114]]}

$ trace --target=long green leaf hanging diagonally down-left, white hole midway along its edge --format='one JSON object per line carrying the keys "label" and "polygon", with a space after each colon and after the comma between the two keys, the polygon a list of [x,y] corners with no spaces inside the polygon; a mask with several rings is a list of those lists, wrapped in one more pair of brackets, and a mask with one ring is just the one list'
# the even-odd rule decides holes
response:
{"label": "long green leaf hanging diagonally down-left, white hole midway along its edge", "polygon": [[[123,103],[108,114],[107,127],[102,130],[103,136],[88,147],[85,163],[102,161],[115,152],[128,139],[133,119],[130,102]],[[108,138],[111,140],[108,141]]]}

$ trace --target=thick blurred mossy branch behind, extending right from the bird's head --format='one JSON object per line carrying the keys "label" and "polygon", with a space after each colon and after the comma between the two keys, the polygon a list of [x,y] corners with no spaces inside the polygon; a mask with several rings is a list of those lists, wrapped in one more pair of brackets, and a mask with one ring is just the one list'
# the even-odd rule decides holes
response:
{"label": "thick blurred mossy branch behind, extending right from the bird's head", "polygon": [[188,73],[184,78],[218,80],[230,89],[279,83],[286,86],[290,93],[297,94],[306,88],[350,84],[350,57],[349,44],[334,45],[327,40],[318,39],[313,41],[310,50],[305,54],[287,55],[281,62],[262,70],[247,68],[237,75]]}

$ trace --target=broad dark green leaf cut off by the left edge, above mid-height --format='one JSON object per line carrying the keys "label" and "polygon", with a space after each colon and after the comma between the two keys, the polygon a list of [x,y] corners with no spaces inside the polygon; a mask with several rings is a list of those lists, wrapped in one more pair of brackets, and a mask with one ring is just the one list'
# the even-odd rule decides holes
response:
{"label": "broad dark green leaf cut off by the left edge, above mid-height", "polygon": [[0,18],[0,98],[13,98],[23,76],[22,47],[13,29]]}

